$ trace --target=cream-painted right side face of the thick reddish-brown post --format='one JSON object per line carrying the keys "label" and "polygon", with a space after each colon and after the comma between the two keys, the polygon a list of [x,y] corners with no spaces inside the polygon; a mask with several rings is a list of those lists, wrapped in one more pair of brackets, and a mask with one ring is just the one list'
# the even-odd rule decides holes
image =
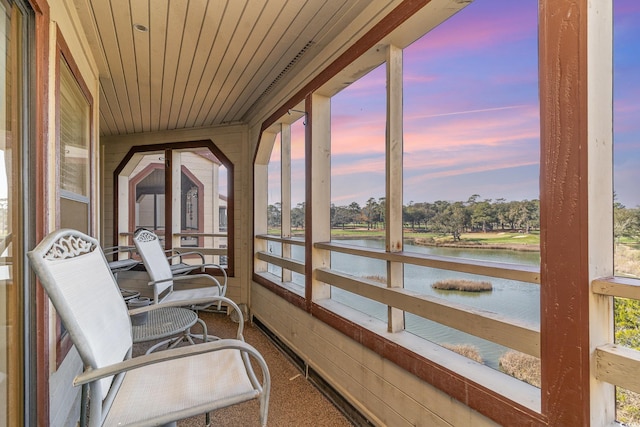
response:
{"label": "cream-painted right side face of the thick reddish-brown post", "polygon": [[[587,7],[587,176],[590,422],[611,425],[616,419],[615,388],[597,381],[595,349],[614,342],[613,298],[590,291],[591,282],[614,274],[613,241],[613,2],[585,2]],[[586,183],[585,183],[586,182]]]}

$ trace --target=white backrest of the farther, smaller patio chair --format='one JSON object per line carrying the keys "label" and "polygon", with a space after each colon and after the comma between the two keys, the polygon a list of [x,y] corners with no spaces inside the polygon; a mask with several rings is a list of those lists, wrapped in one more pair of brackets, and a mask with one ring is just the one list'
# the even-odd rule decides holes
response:
{"label": "white backrest of the farther, smaller patio chair", "polygon": [[165,280],[156,285],[155,291],[157,295],[171,288],[173,286],[173,280],[171,280],[173,273],[158,235],[147,229],[140,228],[136,230],[133,236],[133,243],[136,245],[138,254],[142,258],[142,263],[146,267],[151,280],[154,282]]}

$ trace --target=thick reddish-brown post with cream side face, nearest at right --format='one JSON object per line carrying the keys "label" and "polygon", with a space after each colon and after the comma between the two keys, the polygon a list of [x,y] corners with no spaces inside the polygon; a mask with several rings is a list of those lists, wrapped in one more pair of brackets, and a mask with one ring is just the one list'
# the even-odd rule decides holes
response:
{"label": "thick reddish-brown post with cream side face, nearest at right", "polygon": [[612,338],[612,10],[540,0],[542,412],[549,425],[608,425],[613,387],[593,348]]}

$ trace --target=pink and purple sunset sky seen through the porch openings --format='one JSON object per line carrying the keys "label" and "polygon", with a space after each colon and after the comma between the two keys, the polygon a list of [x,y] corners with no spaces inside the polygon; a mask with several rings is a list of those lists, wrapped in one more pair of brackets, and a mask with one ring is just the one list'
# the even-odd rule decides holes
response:
{"label": "pink and purple sunset sky seen through the porch openings", "polygon": [[[404,50],[404,204],[539,198],[537,14],[536,0],[475,1]],[[614,17],[614,187],[636,207],[640,2],[615,0]],[[332,98],[336,205],[384,197],[385,91],[383,65]],[[295,206],[304,201],[301,121],[292,140]]]}

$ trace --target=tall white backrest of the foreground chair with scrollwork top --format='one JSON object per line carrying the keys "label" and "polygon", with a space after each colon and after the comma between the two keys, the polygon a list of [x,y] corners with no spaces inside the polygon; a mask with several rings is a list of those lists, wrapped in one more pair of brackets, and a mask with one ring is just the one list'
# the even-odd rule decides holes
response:
{"label": "tall white backrest of the foreground chair with scrollwork top", "polygon": [[[131,321],[98,241],[62,229],[28,256],[84,365],[100,368],[127,358],[133,345]],[[103,399],[112,380],[100,380]]]}

